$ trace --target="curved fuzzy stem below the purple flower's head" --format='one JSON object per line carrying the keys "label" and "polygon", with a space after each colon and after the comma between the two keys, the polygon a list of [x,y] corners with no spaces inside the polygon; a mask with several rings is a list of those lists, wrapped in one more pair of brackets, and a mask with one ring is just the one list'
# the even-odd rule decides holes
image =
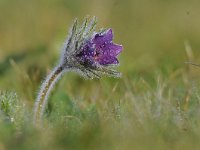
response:
{"label": "curved fuzzy stem below the purple flower's head", "polygon": [[45,106],[47,104],[49,94],[63,72],[64,72],[63,67],[58,66],[52,71],[50,75],[47,76],[47,78],[43,82],[41,89],[39,91],[37,100],[35,102],[35,108],[34,108],[33,119],[34,119],[34,124],[36,126],[41,125],[42,115],[43,115]]}

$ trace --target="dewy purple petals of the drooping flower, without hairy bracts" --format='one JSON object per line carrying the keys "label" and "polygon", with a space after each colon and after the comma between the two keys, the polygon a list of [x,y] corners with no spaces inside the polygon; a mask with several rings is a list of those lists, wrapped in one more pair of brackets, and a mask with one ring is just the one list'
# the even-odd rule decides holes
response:
{"label": "dewy purple petals of the drooping flower, without hairy bracts", "polygon": [[91,61],[100,65],[118,64],[116,56],[122,51],[122,46],[114,44],[112,29],[103,33],[95,33],[83,46],[82,51],[77,55],[82,61]]}

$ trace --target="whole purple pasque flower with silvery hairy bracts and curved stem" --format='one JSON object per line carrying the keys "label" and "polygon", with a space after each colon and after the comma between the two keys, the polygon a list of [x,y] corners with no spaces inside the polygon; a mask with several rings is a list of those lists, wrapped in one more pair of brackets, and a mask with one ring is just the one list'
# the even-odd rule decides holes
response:
{"label": "whole purple pasque flower with silvery hairy bracts and curved stem", "polygon": [[122,46],[113,43],[112,29],[95,31],[96,18],[86,18],[82,25],[75,20],[64,44],[60,63],[47,76],[41,86],[34,109],[34,123],[41,124],[41,118],[51,89],[66,71],[76,71],[82,76],[93,79],[102,75],[119,77],[120,73],[113,69],[119,64],[118,54]]}

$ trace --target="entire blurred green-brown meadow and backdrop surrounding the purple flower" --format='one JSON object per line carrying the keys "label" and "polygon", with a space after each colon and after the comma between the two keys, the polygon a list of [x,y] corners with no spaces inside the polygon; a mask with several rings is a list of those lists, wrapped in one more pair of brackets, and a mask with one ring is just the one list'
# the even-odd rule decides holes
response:
{"label": "entire blurred green-brown meadow and backdrop surrounding the purple flower", "polygon": [[[0,0],[0,150],[198,150],[198,0]],[[32,125],[75,17],[112,27],[121,78],[63,76]]]}

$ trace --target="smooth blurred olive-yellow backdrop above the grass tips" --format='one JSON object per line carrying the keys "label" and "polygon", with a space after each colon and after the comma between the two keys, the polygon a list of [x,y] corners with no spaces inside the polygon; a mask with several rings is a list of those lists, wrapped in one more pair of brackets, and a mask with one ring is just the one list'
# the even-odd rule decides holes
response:
{"label": "smooth blurred olive-yellow backdrop above the grass tips", "polygon": [[73,19],[82,20],[86,15],[97,16],[99,28],[113,28],[115,42],[124,46],[119,59],[125,76],[159,70],[171,73],[187,61],[184,42],[192,47],[196,61],[199,59],[199,3],[198,0],[1,0],[0,86],[10,88],[16,83],[11,60],[26,72],[37,71],[38,67],[52,68]]}

